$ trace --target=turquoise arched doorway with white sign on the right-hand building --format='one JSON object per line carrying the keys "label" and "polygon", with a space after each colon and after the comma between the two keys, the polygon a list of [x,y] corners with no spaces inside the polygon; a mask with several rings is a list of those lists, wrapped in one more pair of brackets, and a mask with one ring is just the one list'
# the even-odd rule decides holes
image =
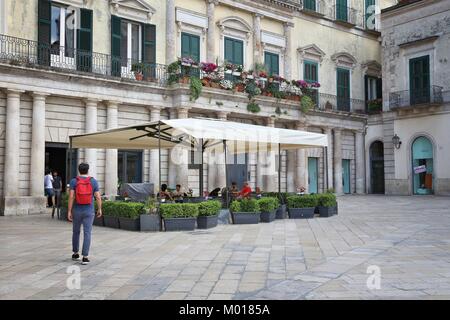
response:
{"label": "turquoise arched doorway with white sign on the right-hand building", "polygon": [[412,144],[413,193],[433,193],[433,144],[418,137]]}

